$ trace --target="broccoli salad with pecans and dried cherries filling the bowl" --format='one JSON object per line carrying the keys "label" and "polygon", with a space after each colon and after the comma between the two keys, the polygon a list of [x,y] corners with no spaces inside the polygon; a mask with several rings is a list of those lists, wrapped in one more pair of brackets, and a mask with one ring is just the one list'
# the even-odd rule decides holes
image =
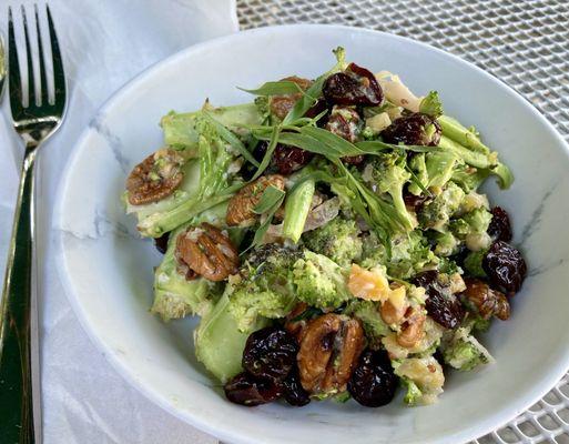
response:
{"label": "broccoli salad with pecans and dried cherries filling the bowl", "polygon": [[315,80],[162,119],[123,195],[164,253],[151,310],[201,316],[197,360],[231,402],[430,404],[445,373],[492,362],[477,335],[526,276],[479,191],[514,178],[436,91],[333,52]]}

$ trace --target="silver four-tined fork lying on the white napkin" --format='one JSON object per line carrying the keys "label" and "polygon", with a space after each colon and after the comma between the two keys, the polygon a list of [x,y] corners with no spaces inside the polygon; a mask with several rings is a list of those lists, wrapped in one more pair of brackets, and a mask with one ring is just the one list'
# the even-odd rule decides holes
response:
{"label": "silver four-tined fork lying on the white napkin", "polygon": [[[48,7],[48,29],[53,67],[53,94],[48,91],[48,68],[43,56],[38,7],[39,78],[33,75],[33,54],[26,9],[21,8],[28,61],[28,91],[22,87],[11,8],[8,9],[8,77],[10,109],[14,130],[26,144],[20,188],[10,241],[8,265],[0,307],[0,436],[2,443],[30,444],[35,441],[32,369],[31,306],[34,238],[34,175],[40,145],[55,132],[65,111],[65,77],[53,21]],[[37,91],[39,93],[37,93]],[[38,437],[40,441],[41,437]]]}

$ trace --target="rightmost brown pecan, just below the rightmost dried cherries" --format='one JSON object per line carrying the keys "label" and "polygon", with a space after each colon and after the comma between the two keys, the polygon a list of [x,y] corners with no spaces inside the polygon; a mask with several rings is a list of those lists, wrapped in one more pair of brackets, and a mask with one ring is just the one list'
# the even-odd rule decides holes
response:
{"label": "rightmost brown pecan, just below the rightmost dried cherries", "polygon": [[479,279],[467,278],[465,283],[461,296],[476,307],[480,316],[490,319],[494,315],[502,321],[510,317],[510,304],[504,293],[490,289]]}

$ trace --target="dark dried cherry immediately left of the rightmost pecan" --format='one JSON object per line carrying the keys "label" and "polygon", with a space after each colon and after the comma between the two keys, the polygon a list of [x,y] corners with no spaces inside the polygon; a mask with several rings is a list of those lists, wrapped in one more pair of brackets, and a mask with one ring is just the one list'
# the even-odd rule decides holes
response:
{"label": "dark dried cherry immediately left of the rightmost pecan", "polygon": [[458,297],[450,292],[450,285],[440,282],[437,271],[425,271],[415,276],[413,283],[425,289],[425,307],[434,321],[447,329],[460,325],[465,317],[465,309]]}

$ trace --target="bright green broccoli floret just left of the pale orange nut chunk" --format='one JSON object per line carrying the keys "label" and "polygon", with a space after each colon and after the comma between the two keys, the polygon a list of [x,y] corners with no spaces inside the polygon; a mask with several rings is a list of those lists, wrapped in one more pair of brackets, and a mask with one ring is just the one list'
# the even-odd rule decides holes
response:
{"label": "bright green broccoli floret just left of the pale orange nut chunk", "polygon": [[293,282],[298,299],[318,309],[337,309],[350,299],[346,281],[337,263],[309,250],[294,264]]}

